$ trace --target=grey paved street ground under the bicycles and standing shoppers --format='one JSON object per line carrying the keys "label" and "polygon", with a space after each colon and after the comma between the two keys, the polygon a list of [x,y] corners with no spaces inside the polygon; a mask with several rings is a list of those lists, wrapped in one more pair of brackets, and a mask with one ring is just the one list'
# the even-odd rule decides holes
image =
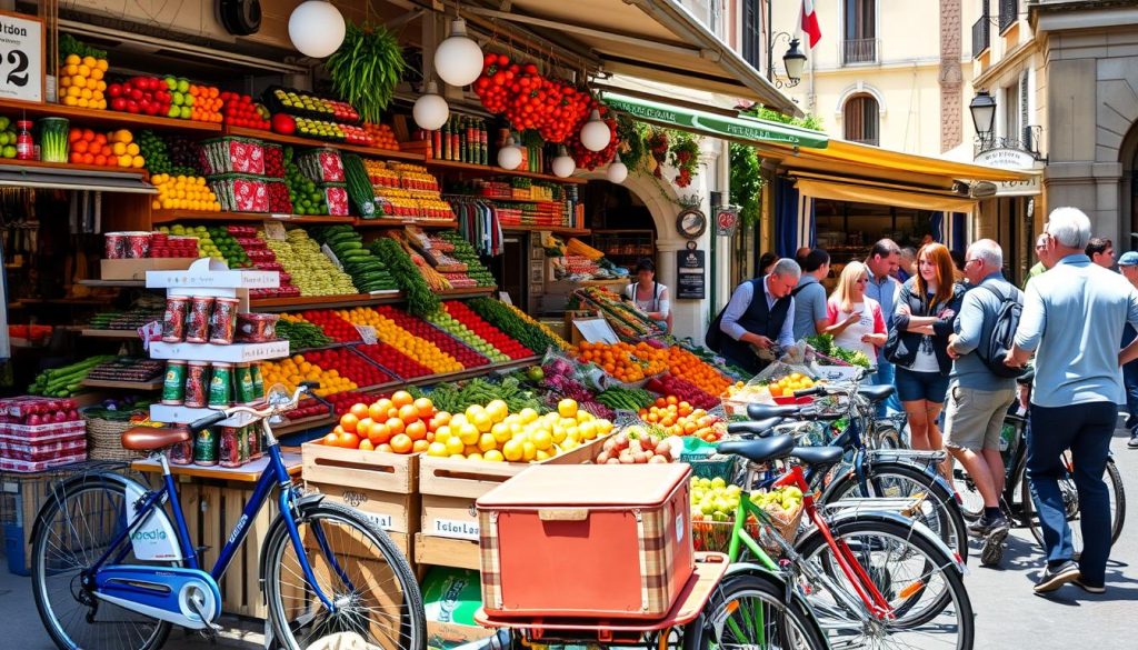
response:
{"label": "grey paved street ground under the bicycles and standing shoppers", "polygon": [[[1032,593],[1031,586],[1041,566],[1039,550],[1026,529],[1013,530],[1004,556],[1003,569],[987,569],[974,561],[966,579],[972,607],[976,611],[976,650],[1067,650],[1095,647],[1120,648],[1123,639],[1138,637],[1138,451],[1125,447],[1119,431],[1113,449],[1129,492],[1127,526],[1114,546],[1107,569],[1105,595],[1088,595],[1065,586],[1050,598]],[[973,558],[979,558],[979,545]],[[40,626],[32,601],[30,579],[0,571],[0,611],[5,619],[19,622],[7,626],[9,647],[20,650],[48,650],[50,641]],[[258,636],[251,640],[259,641]],[[224,640],[226,644],[237,641]],[[1132,641],[1131,641],[1132,642]],[[240,643],[238,643],[240,644]],[[254,643],[242,644],[254,648]],[[171,635],[167,648],[207,648],[204,641],[181,632]]]}

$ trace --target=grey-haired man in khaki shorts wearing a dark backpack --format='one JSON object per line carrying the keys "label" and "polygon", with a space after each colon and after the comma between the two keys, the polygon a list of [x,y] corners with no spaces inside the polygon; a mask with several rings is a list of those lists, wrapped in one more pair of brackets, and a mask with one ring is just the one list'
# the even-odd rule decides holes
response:
{"label": "grey-haired man in khaki shorts wearing a dark backpack", "polygon": [[945,411],[945,446],[960,461],[984,500],[984,513],[970,533],[984,538],[983,565],[997,565],[1012,527],[1000,511],[1004,459],[1000,431],[1004,415],[1015,402],[1015,377],[1022,372],[1004,364],[1019,324],[1023,295],[1004,279],[1004,252],[991,239],[968,247],[964,274],[972,289],[964,295],[949,336],[954,359]]}

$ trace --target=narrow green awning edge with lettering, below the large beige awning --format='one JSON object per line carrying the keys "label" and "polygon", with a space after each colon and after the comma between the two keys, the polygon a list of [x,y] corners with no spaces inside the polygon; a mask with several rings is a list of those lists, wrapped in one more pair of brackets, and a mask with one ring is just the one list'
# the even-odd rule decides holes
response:
{"label": "narrow green awning edge with lettering, below the large beige awning", "polygon": [[642,122],[692,131],[712,138],[735,140],[744,145],[775,142],[794,147],[825,149],[830,143],[830,138],[819,131],[800,129],[756,117],[728,117],[692,108],[658,104],[615,92],[604,92],[602,100],[609,108],[627,113]]}

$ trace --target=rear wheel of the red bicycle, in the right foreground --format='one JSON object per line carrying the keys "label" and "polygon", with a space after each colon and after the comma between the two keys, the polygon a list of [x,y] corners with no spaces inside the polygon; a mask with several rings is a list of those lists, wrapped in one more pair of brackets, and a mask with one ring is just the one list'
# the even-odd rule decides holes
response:
{"label": "rear wheel of the red bicycle, in the right foreground", "polygon": [[[799,562],[809,575],[808,600],[831,642],[850,648],[972,648],[975,630],[972,602],[964,579],[946,549],[915,534],[910,526],[874,517],[839,520],[831,526],[890,603],[893,618],[861,623],[842,604],[847,596],[860,602],[853,585],[839,568],[833,550],[820,533],[799,544]],[[835,593],[841,590],[843,594]]]}

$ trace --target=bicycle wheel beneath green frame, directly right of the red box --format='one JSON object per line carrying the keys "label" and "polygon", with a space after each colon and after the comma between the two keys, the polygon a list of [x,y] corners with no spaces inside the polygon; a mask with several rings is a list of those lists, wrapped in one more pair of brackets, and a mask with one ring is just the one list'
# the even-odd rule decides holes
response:
{"label": "bicycle wheel beneath green frame, directly right of the red box", "polygon": [[785,587],[770,576],[728,576],[684,631],[684,650],[827,648],[810,610],[798,599],[785,600]]}

